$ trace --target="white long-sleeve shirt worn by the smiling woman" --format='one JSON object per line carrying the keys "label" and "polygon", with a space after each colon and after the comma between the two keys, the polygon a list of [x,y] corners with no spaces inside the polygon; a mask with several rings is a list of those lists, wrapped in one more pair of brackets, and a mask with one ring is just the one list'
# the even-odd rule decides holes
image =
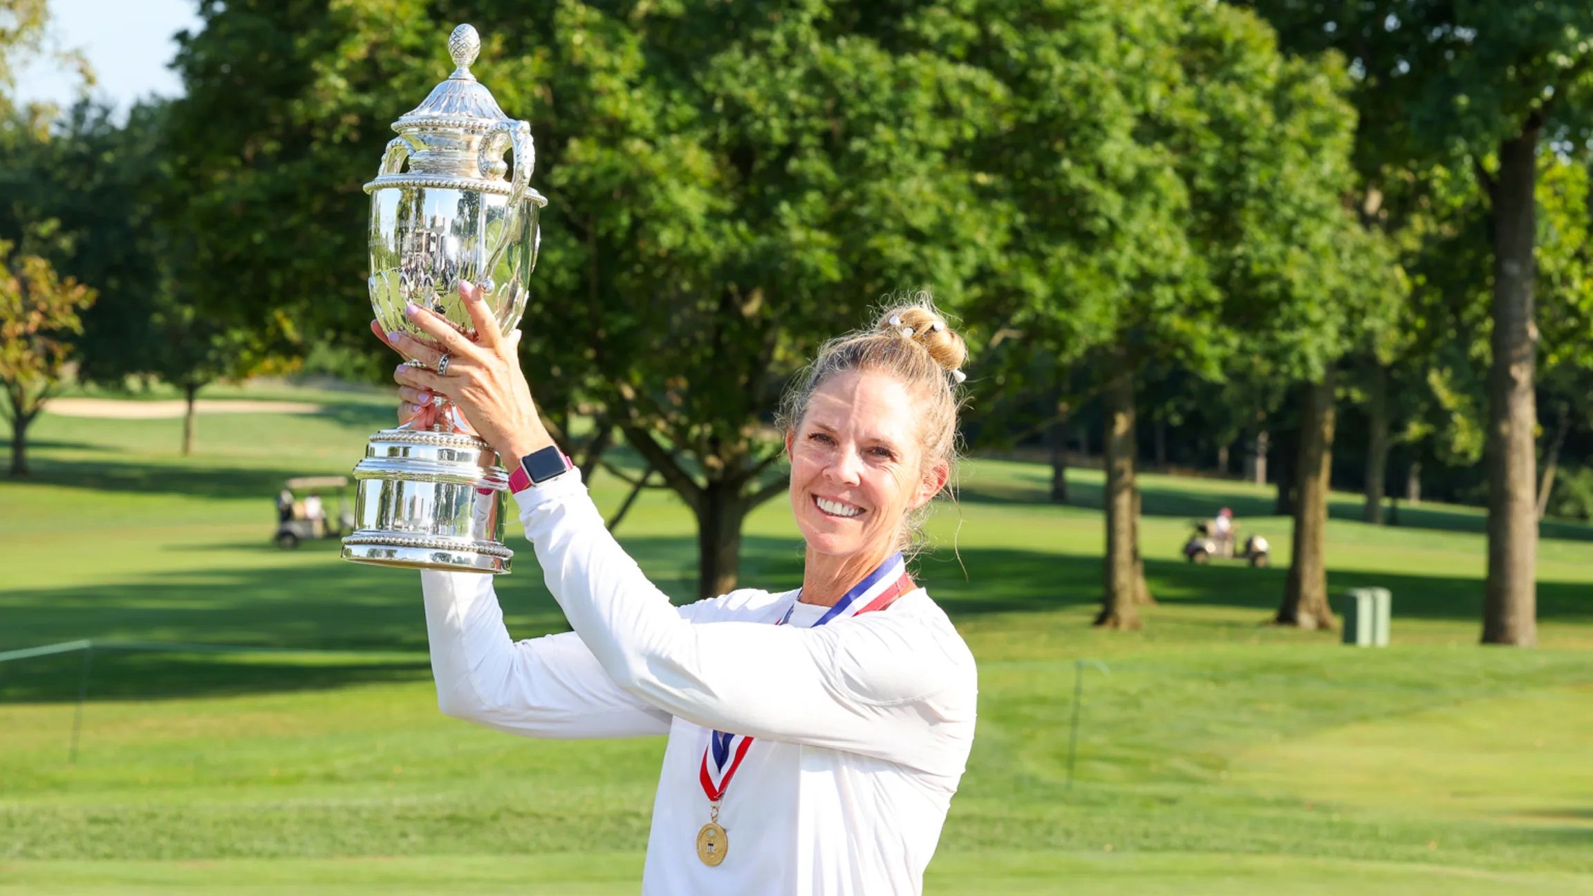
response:
{"label": "white long-sleeve shirt worn by the smiling woman", "polygon": [[[515,643],[491,576],[424,572],[443,713],[527,737],[667,733],[644,896],[922,891],[977,695],[972,654],[922,588],[819,628],[825,607],[796,591],[674,607],[604,528],[578,472],[515,497],[575,631]],[[696,837],[714,729],[755,740],[718,813],[725,861],[709,867]]]}

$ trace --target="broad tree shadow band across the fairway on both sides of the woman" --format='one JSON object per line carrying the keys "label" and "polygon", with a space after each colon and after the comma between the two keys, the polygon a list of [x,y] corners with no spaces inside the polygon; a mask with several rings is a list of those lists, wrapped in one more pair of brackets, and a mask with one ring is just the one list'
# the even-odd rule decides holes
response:
{"label": "broad tree shadow band across the fairway on both sides of the woman", "polygon": [[[695,537],[624,539],[653,584],[675,603],[695,598]],[[562,612],[546,593],[530,550],[519,548],[516,572],[494,580],[510,635],[534,638],[567,631]],[[261,545],[263,552],[274,547]],[[309,553],[312,552],[312,553]],[[175,572],[156,580],[89,588],[8,591],[0,598],[5,630],[0,649],[91,638],[185,644],[228,644],[306,650],[414,652],[427,649],[419,576],[409,571],[344,563],[336,542],[306,548],[296,566]],[[742,582],[768,590],[801,584],[801,552],[790,539],[749,537],[742,550]],[[967,574],[964,576],[964,568]],[[1260,625],[1284,590],[1282,569],[1195,566],[1147,560],[1152,591],[1166,606],[1220,606],[1254,611]],[[1032,550],[972,548],[962,560],[926,556],[916,579],[956,620],[984,614],[1034,614],[1094,606],[1101,595],[1101,560]],[[1472,622],[1480,619],[1483,585],[1470,577],[1330,572],[1335,609],[1352,587],[1381,585],[1394,593],[1399,619]],[[1593,622],[1585,584],[1539,585],[1539,619]],[[1152,611],[1153,612],[1153,611]],[[1231,625],[1214,622],[1214,625]],[[1249,623],[1246,623],[1249,625]],[[247,690],[341,687],[370,681],[425,678],[424,658],[362,662],[358,657],[279,657],[139,654],[116,657],[121,671],[97,684],[97,698],[159,698]],[[374,660],[374,657],[373,657]],[[70,697],[76,660],[38,658],[0,666],[0,698],[61,700]],[[99,662],[99,660],[96,660]],[[68,668],[33,684],[16,684],[29,663]],[[41,666],[33,666],[41,668]],[[104,673],[108,674],[108,673]],[[100,676],[96,676],[100,681]],[[61,682],[67,684],[62,686]],[[8,684],[10,682],[10,684]],[[67,687],[67,694],[62,692]]]}

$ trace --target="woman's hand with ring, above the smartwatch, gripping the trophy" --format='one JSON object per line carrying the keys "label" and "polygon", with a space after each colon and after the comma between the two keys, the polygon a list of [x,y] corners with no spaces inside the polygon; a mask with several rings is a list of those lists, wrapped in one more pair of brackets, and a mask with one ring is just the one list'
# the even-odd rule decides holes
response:
{"label": "woman's hand with ring, above the smartwatch, gripping the trophy", "polygon": [[[499,458],[507,464],[518,464],[526,454],[553,445],[519,368],[519,330],[508,336],[499,332],[497,319],[475,284],[460,284],[459,297],[475,324],[475,341],[444,317],[411,303],[406,309],[409,320],[432,338],[393,333],[387,343],[430,370],[400,365],[393,371],[393,381],[406,403],[421,407],[416,413],[422,419],[427,410],[435,418],[435,407],[422,399],[443,395],[464,411],[465,419],[492,445]],[[436,373],[444,352],[448,367]]]}

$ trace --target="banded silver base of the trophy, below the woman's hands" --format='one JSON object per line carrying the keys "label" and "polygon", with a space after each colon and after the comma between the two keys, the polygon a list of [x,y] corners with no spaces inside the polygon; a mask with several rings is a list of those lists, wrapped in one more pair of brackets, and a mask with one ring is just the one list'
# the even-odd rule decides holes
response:
{"label": "banded silver base of the trophy, below the woman's hands", "polygon": [[342,558],[373,566],[505,574],[508,475],[475,435],[384,429],[354,467],[354,532]]}

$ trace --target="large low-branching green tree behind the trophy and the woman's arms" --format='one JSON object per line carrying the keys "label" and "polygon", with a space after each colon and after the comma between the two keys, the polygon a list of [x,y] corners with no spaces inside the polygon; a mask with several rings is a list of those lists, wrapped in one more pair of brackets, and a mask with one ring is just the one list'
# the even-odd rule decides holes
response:
{"label": "large low-branching green tree behind the trophy and the woman's arms", "polygon": [[[452,22],[419,0],[207,0],[201,16],[174,108],[185,284],[288,351],[368,340],[358,185],[387,123],[446,73]],[[534,121],[551,201],[527,375],[553,416],[580,402],[623,432],[696,517],[699,590],[725,591],[742,520],[785,489],[768,421],[801,359],[881,293],[956,295],[977,269],[975,172],[948,153],[994,84],[886,48],[892,14],[840,3],[500,0],[472,22],[475,72]]]}

